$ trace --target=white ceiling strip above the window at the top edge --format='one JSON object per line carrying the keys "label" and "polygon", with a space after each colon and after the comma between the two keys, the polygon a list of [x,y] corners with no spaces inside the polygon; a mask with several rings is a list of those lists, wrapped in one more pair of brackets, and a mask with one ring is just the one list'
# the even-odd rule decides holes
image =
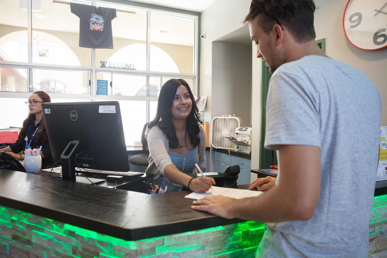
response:
{"label": "white ceiling strip above the window at the top edge", "polygon": [[164,7],[203,12],[216,0],[127,0],[128,2],[148,3],[151,5],[160,5]]}

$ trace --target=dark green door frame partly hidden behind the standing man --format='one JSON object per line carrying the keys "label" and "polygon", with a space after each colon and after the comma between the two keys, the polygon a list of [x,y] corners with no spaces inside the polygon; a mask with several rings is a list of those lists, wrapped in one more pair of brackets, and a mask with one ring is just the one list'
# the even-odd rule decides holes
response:
{"label": "dark green door frame partly hidden behind the standing man", "polygon": [[[325,38],[316,40],[317,45],[325,53]],[[261,135],[259,139],[259,168],[268,169],[271,165],[277,164],[276,151],[266,150],[264,148],[265,142],[265,127],[266,127],[266,99],[269,91],[269,81],[271,74],[269,67],[262,62],[262,76],[261,76]]]}

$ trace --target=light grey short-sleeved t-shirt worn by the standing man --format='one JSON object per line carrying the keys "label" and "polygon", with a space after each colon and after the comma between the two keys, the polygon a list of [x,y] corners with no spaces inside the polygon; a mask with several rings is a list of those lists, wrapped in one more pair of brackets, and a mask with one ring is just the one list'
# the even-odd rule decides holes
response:
{"label": "light grey short-sleeved t-shirt worn by the standing man", "polygon": [[382,109],[377,88],[363,72],[316,55],[281,65],[269,85],[265,148],[319,146],[321,191],[310,220],[266,224],[257,257],[367,257]]}

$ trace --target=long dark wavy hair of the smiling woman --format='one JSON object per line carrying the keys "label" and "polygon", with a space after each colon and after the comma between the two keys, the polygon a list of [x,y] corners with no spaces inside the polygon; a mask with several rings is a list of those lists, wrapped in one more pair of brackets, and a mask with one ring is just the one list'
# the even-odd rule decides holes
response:
{"label": "long dark wavy hair of the smiling woman", "polygon": [[[173,98],[175,98],[177,88],[180,85],[185,86],[188,89],[188,93],[190,94],[190,98],[192,100],[192,109],[190,114],[187,117],[187,122],[185,125],[185,132],[190,137],[191,144],[195,147],[200,143],[200,124],[203,124],[199,119],[199,109],[196,106],[194,95],[188,86],[188,83],[183,79],[170,79],[166,83],[164,83],[163,87],[161,87],[159,102],[157,104],[157,112],[156,117],[152,122],[149,123],[149,128],[154,126],[158,126],[161,131],[167,136],[169,141],[169,147],[171,149],[176,149],[180,146],[178,143],[178,139],[176,136],[175,125],[172,122],[172,105]],[[204,140],[204,139],[202,139]]]}

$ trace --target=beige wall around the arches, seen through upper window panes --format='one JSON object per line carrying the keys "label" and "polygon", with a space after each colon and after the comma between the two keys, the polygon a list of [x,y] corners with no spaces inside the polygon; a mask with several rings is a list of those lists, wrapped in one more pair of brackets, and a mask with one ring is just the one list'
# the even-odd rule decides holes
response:
{"label": "beige wall around the arches, seen through upper window panes", "polygon": [[[22,31],[26,30],[26,28],[21,27],[14,27],[14,26],[6,26],[0,24],[0,38],[4,35],[7,35],[14,31]],[[51,34],[53,36],[56,36],[57,38],[64,41],[71,50],[77,55],[80,64],[82,66],[91,66],[91,48],[82,48],[79,47],[79,34],[78,33],[67,33],[67,32],[60,32],[60,31],[48,31],[48,30],[38,30],[43,31],[45,33]],[[99,67],[99,61],[107,61],[113,53],[115,53],[118,49],[134,44],[134,43],[146,43],[146,41],[139,41],[139,40],[128,40],[128,39],[122,39],[122,38],[115,38],[114,39],[114,49],[97,49],[96,50],[96,60],[97,60],[97,66]],[[193,73],[193,47],[192,46],[182,46],[182,45],[174,45],[174,44],[165,44],[165,43],[156,43],[152,42],[152,45],[155,45],[162,50],[164,50],[168,55],[171,56],[173,61],[175,61],[179,72],[181,73],[187,73],[192,74]],[[130,59],[127,61],[124,61],[127,63],[131,63]]]}

